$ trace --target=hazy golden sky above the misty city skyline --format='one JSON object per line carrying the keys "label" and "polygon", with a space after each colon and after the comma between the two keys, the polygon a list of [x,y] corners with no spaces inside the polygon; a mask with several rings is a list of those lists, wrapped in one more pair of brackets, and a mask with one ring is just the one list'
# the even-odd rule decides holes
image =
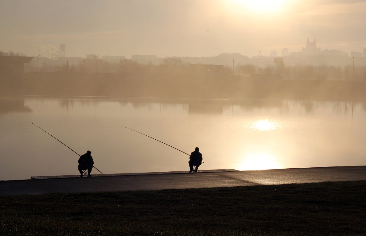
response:
{"label": "hazy golden sky above the misty city skyline", "polygon": [[365,0],[0,0],[0,50],[66,56],[362,52]]}

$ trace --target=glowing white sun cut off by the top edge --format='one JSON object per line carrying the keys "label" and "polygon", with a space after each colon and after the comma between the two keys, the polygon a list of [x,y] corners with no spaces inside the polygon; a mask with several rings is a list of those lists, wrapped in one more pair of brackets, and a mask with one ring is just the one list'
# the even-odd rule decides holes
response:
{"label": "glowing white sun cut off by the top edge", "polygon": [[236,7],[243,8],[249,12],[279,12],[285,6],[288,0],[231,0]]}

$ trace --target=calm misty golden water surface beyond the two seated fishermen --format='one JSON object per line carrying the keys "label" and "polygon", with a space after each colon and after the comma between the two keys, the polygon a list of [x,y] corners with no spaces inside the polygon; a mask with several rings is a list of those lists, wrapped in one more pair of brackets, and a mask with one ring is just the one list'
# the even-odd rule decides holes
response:
{"label": "calm misty golden water surface beyond the two seated fishermen", "polygon": [[[103,173],[365,165],[361,102],[24,97],[0,100],[0,180],[77,175],[90,150]],[[98,172],[93,169],[92,174]]]}

